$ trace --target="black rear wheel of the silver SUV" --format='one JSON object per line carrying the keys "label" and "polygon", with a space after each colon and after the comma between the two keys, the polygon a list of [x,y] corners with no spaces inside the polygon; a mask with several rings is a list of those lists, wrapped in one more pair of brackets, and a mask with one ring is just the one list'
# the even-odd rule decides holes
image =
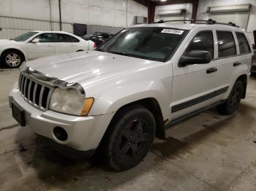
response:
{"label": "black rear wheel of the silver SUV", "polygon": [[241,82],[240,80],[236,81],[225,103],[217,106],[217,110],[219,111],[219,113],[228,115],[236,112],[236,109],[240,104],[243,92],[243,82]]}

